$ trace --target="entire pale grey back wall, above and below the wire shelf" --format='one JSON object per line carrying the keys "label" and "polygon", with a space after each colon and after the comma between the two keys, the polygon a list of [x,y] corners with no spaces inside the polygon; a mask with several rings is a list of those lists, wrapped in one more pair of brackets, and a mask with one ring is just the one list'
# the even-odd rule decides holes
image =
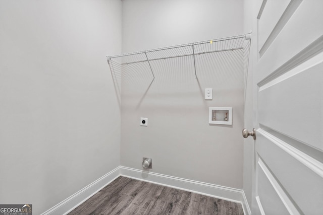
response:
{"label": "entire pale grey back wall, above and below the wire shelf", "polygon": [[[124,53],[244,33],[242,0],[125,0],[122,19]],[[143,70],[123,74],[121,165],[142,169],[150,157],[152,172],[242,189],[243,71],[198,65],[196,80],[191,66],[164,66],[155,82]],[[233,125],[209,125],[210,106],[233,107]]]}

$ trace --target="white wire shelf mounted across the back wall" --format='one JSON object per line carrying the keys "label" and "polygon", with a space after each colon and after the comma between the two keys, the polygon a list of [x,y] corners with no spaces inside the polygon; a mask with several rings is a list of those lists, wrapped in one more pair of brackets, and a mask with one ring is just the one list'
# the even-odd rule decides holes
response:
{"label": "white wire shelf mounted across the back wall", "polygon": [[[201,42],[194,42],[182,45],[169,46],[164,48],[157,48],[133,53],[126,53],[114,56],[107,56],[107,62],[110,65],[110,70],[112,74],[121,74],[124,71],[129,70],[150,70],[153,80],[155,81],[154,70],[158,69],[154,67],[158,65],[160,60],[170,59],[170,58],[187,58],[191,59],[195,78],[197,78],[197,65],[199,67],[203,63],[208,63],[205,61],[206,58],[216,58],[221,56],[222,59],[226,60],[223,56],[228,56],[230,58],[236,58],[238,61],[244,59],[248,61],[249,58],[249,45],[250,40],[246,39],[246,35],[232,36],[220,39],[213,39]],[[224,53],[223,55],[218,55],[217,53]],[[235,63],[233,63],[235,64]],[[231,65],[235,66],[235,65]],[[246,73],[246,71],[245,71]],[[113,77],[114,80],[117,79]],[[116,80],[115,80],[116,81]],[[245,82],[246,80],[244,80]],[[119,84],[117,84],[119,88]]]}

